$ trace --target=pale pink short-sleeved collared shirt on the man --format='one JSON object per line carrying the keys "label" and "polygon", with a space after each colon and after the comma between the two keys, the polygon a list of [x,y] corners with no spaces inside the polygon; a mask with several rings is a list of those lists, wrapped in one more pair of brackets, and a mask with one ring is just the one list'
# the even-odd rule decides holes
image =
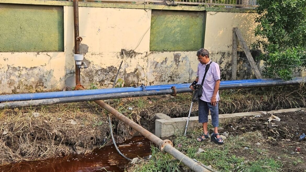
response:
{"label": "pale pink short-sleeved collared shirt on the man", "polygon": [[[207,64],[209,64],[210,62],[211,60],[209,60]],[[203,76],[205,73],[205,68],[206,64],[199,63],[198,70],[196,72],[196,75],[199,76],[198,84],[202,83]],[[209,69],[206,73],[206,77],[204,79],[203,93],[202,96],[200,97],[201,100],[205,102],[211,102],[211,97],[214,93],[215,84],[217,80],[220,80],[220,67],[216,62],[212,62],[209,66]],[[216,99],[217,101],[220,100],[219,90],[217,92]]]}

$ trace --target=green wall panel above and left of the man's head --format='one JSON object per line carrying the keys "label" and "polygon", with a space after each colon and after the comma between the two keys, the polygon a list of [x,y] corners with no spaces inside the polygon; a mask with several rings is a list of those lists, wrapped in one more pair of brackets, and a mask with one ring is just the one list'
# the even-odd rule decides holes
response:
{"label": "green wall panel above and left of the man's head", "polygon": [[204,14],[152,10],[151,51],[195,51],[203,48]]}

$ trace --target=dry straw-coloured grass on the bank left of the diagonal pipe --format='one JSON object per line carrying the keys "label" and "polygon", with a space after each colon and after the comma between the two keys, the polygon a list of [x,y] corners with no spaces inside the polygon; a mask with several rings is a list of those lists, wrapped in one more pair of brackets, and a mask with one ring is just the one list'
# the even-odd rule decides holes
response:
{"label": "dry straw-coloured grass on the bank left of the diagonal pipe", "polygon": [[80,105],[1,110],[0,164],[85,153],[99,146],[108,129],[106,116]]}

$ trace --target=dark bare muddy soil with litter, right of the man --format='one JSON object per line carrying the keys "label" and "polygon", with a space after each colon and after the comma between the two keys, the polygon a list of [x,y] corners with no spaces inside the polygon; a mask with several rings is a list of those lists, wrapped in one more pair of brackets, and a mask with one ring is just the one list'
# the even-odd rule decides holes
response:
{"label": "dark bare muddy soil with litter, right of the man", "polygon": [[[229,136],[237,136],[247,132],[260,131],[262,140],[256,140],[253,148],[267,150],[273,159],[283,162],[282,171],[306,171],[306,138],[298,140],[300,135],[306,133],[305,110],[276,114],[281,120],[268,122],[271,114],[262,114],[260,117],[244,117],[236,123],[224,126]],[[244,155],[246,160],[252,161],[256,154],[248,155],[247,150],[235,152]]]}

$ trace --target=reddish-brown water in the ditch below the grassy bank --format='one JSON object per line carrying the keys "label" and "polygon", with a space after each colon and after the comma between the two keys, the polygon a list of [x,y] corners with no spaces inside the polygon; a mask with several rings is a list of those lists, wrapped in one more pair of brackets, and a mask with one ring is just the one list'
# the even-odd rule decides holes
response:
{"label": "reddish-brown water in the ditch below the grassy bank", "polygon": [[[145,157],[150,155],[150,140],[135,136],[118,147],[128,158]],[[118,146],[119,146],[118,145]],[[44,161],[31,161],[18,164],[0,166],[0,172],[95,172],[95,171],[124,171],[129,161],[116,151],[114,145],[95,149],[86,155],[71,155],[64,158],[52,158]]]}

